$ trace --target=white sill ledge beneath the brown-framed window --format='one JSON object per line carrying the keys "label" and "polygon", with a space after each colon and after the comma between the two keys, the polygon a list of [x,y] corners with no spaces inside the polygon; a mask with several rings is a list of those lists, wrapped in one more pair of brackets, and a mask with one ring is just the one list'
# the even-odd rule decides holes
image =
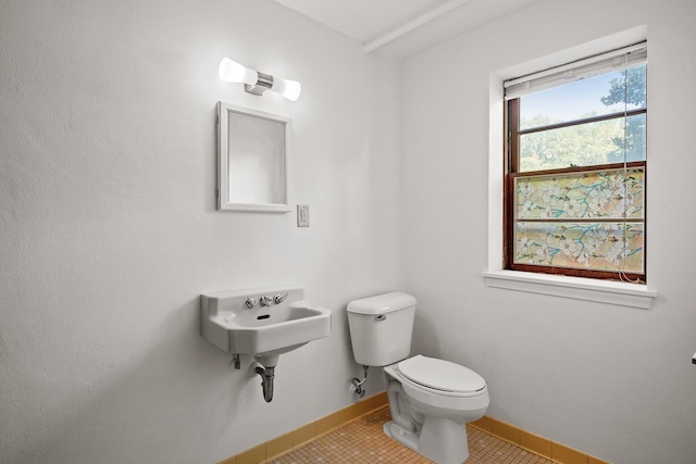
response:
{"label": "white sill ledge beneath the brown-framed window", "polygon": [[483,272],[488,287],[648,310],[657,291],[644,285],[518,271]]}

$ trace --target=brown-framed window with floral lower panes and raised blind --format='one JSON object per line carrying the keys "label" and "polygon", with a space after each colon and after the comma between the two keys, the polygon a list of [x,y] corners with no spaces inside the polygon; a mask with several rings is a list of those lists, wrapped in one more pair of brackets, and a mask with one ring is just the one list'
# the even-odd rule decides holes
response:
{"label": "brown-framed window with floral lower panes and raised blind", "polygon": [[506,87],[506,268],[645,283],[645,43]]}

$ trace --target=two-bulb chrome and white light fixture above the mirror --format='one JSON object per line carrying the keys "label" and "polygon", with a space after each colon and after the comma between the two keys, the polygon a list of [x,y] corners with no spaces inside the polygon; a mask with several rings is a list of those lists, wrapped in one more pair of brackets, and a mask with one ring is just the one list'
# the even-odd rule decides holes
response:
{"label": "two-bulb chrome and white light fixture above the mirror", "polygon": [[262,95],[270,89],[290,101],[296,101],[302,91],[302,86],[297,80],[282,79],[249,70],[228,58],[223,58],[220,62],[219,74],[220,78],[227,83],[244,84],[245,90],[253,95]]}

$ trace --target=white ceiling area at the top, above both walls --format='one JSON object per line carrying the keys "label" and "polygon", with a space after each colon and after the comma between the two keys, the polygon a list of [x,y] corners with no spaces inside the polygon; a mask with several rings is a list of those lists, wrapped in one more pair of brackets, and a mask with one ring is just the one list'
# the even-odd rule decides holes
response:
{"label": "white ceiling area at the top, above both walls", "polygon": [[361,42],[408,57],[539,0],[275,0]]}

